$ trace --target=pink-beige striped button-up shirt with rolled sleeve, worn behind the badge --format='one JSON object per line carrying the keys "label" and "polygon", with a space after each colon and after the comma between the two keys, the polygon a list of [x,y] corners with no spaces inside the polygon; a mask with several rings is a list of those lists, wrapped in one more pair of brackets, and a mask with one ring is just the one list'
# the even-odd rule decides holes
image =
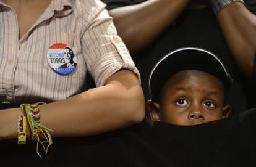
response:
{"label": "pink-beige striped button-up shirt with rolled sleeve, worn behind the badge", "polygon": [[[129,51],[98,0],[52,0],[28,32],[19,39],[14,10],[0,1],[0,99],[2,103],[52,102],[85,90],[87,70],[102,86],[121,68],[138,76]],[[48,65],[55,43],[72,47],[77,67],[59,75]]]}

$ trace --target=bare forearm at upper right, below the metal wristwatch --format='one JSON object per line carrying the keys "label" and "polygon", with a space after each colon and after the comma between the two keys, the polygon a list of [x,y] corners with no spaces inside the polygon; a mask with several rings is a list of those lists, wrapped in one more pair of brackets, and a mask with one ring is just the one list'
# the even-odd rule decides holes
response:
{"label": "bare forearm at upper right, below the metal wristwatch", "polygon": [[256,55],[256,16],[241,2],[232,2],[217,13],[217,18],[234,60],[251,78]]}

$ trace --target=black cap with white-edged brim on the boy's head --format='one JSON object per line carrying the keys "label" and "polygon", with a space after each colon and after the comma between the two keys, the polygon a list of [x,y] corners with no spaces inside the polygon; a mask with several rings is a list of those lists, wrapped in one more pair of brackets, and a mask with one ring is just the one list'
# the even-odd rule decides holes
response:
{"label": "black cap with white-edged brim on the boy's head", "polygon": [[233,86],[231,75],[215,54],[198,47],[182,47],[165,55],[151,71],[148,79],[151,99],[158,102],[166,81],[182,70],[200,70],[216,76],[223,83],[225,92]]}

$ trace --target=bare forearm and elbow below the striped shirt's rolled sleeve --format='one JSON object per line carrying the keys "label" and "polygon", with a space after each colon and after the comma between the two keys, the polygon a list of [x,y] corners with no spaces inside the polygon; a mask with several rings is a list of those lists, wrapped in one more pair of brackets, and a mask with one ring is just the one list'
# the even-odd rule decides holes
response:
{"label": "bare forearm and elbow below the striped shirt's rolled sleeve", "polygon": [[[105,86],[74,97],[40,105],[40,124],[53,136],[88,136],[139,123],[145,115],[143,92],[132,71],[110,76]],[[20,108],[1,110],[0,139],[17,137]]]}

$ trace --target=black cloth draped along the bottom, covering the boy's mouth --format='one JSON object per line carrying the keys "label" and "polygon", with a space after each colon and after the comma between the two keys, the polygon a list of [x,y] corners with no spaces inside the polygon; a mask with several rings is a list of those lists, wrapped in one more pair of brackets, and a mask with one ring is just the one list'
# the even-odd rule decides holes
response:
{"label": "black cloth draped along the bottom, covering the boy's mouth", "polygon": [[0,141],[2,166],[255,166],[256,109],[198,126],[145,120],[93,137],[54,138],[48,155],[35,142]]}

